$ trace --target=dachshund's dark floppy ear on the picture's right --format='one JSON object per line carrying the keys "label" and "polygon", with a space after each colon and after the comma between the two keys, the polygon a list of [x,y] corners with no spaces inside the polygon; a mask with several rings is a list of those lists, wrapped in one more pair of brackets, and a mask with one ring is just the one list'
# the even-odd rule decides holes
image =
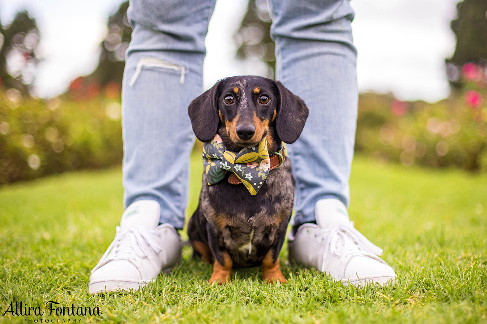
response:
{"label": "dachshund's dark floppy ear on the picture's right", "polygon": [[281,82],[276,81],[279,92],[279,108],[276,118],[276,130],[284,143],[294,143],[301,135],[308,107],[300,97],[287,90]]}

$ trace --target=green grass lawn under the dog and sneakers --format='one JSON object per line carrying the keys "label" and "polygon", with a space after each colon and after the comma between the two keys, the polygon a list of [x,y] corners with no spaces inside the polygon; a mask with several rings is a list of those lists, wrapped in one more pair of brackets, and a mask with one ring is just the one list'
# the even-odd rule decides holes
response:
{"label": "green grass lawn under the dog and sneakers", "polygon": [[[192,158],[190,206],[201,163]],[[88,294],[90,270],[122,214],[121,170],[67,173],[0,188],[0,298],[41,306],[98,306],[100,316],[15,316],[76,323],[487,323],[487,177],[370,164],[357,157],[349,212],[384,249],[398,279],[386,288],[345,287],[322,273],[287,266],[288,285],[266,285],[258,268],[209,286],[212,267],[190,259],[132,293]],[[183,237],[187,237],[183,234]],[[25,320],[25,321],[24,321]]]}

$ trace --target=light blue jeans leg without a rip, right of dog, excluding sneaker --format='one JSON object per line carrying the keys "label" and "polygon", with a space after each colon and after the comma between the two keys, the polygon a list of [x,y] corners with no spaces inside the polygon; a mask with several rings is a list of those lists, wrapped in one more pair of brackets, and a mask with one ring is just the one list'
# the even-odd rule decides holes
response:
{"label": "light blue jeans leg without a rip, right of dog, excluding sneaker", "polygon": [[[296,178],[295,223],[322,198],[349,202],[357,116],[356,49],[345,0],[272,0],[276,79],[304,100],[306,125],[286,150]],[[289,147],[289,148],[288,148]]]}

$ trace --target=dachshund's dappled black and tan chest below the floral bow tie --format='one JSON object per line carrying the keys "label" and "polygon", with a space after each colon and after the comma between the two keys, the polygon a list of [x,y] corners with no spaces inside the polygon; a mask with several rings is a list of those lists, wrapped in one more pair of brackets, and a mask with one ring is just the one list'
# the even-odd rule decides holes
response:
{"label": "dachshund's dappled black and tan chest below the floral bow tie", "polygon": [[[261,191],[251,196],[244,185],[203,177],[201,208],[236,267],[254,266],[279,241],[293,208],[294,183],[288,160],[273,170]],[[284,225],[282,225],[284,224]],[[281,229],[282,230],[282,229]]]}

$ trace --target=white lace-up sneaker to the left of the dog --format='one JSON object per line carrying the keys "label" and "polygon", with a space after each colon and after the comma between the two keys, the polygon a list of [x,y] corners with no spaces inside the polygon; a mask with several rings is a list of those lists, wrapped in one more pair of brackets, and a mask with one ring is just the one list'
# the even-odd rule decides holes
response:
{"label": "white lace-up sneaker to the left of the dog", "polygon": [[181,260],[181,238],[159,223],[155,200],[138,200],[123,213],[115,238],[91,271],[90,293],[137,290]]}

